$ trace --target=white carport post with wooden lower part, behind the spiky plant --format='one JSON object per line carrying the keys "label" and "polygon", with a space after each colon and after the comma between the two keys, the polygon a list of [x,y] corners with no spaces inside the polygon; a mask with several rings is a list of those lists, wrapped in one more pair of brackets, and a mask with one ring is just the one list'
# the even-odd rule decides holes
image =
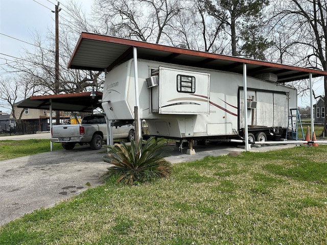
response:
{"label": "white carport post with wooden lower part, behind the spiky plant", "polygon": [[141,121],[139,120],[139,98],[138,98],[138,72],[137,72],[137,48],[133,47],[134,59],[134,80],[135,80],[135,107],[134,107],[134,120],[135,120],[135,144],[138,145],[141,140]]}

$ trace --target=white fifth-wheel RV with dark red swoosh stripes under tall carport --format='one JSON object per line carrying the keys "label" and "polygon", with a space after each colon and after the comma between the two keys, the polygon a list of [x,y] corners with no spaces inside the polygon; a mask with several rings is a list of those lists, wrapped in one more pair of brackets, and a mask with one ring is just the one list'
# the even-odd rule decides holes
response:
{"label": "white fifth-wheel RV with dark red swoosh stripes under tall carport", "polygon": [[[288,113],[297,91],[275,83],[273,74],[247,78],[218,70],[138,60],[139,118],[150,135],[172,139],[216,140],[244,137],[247,110],[250,141],[285,138]],[[102,106],[109,119],[134,119],[133,59],[106,74]]]}

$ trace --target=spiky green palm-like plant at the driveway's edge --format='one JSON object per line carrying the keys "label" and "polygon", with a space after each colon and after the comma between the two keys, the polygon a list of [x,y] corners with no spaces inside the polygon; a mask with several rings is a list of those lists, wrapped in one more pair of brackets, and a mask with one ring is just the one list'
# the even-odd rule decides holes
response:
{"label": "spiky green palm-like plant at the driveway's edge", "polygon": [[108,147],[109,153],[104,161],[113,166],[108,168],[107,175],[117,176],[116,183],[123,181],[132,185],[167,177],[171,173],[171,163],[164,159],[170,151],[165,139],[150,137],[138,144],[131,140],[130,146],[121,142]]}

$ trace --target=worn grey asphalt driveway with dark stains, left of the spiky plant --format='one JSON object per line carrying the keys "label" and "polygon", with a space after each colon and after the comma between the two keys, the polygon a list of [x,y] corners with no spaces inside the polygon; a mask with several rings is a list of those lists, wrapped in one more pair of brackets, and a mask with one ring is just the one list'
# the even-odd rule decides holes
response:
{"label": "worn grey asphalt driveway with dark stains, left of the spiky plant", "polygon": [[102,184],[105,154],[85,145],[0,161],[0,225]]}

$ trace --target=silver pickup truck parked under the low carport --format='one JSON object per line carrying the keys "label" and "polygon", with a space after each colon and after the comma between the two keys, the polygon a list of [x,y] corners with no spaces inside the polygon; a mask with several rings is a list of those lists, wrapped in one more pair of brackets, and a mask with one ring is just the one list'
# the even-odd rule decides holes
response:
{"label": "silver pickup truck parked under the low carport", "polygon": [[[135,137],[134,127],[125,125],[112,127],[113,139],[131,140]],[[84,116],[81,124],[54,125],[51,129],[52,142],[61,143],[66,150],[74,149],[77,143],[90,144],[92,150],[102,148],[103,141],[107,141],[107,126],[103,114]]]}

